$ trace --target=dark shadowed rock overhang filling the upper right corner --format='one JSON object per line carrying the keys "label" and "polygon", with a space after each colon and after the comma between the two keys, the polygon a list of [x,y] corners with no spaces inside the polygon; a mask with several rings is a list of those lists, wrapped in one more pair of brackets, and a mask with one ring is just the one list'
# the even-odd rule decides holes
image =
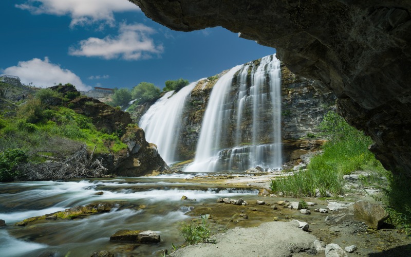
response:
{"label": "dark shadowed rock overhang filling the upper right corner", "polygon": [[365,131],[387,169],[411,176],[411,2],[130,0],[175,30],[222,26],[275,47],[295,74],[341,99],[339,111]]}

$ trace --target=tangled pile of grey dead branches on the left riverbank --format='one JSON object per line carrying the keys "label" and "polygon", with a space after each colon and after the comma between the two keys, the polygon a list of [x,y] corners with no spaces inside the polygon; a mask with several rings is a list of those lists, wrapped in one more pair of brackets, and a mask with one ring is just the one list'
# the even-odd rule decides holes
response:
{"label": "tangled pile of grey dead branches on the left riverbank", "polygon": [[25,163],[18,166],[20,180],[57,180],[76,177],[101,177],[106,174],[107,169],[100,160],[92,160],[94,148],[89,157],[87,145],[83,144],[81,149],[69,158],[57,162],[45,162],[40,164]]}

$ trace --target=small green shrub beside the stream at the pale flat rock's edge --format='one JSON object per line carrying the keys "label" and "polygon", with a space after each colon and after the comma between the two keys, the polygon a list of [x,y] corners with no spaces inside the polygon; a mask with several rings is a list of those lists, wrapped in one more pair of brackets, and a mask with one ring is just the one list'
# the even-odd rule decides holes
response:
{"label": "small green shrub beside the stream at the pale flat rock's edge", "polygon": [[211,230],[209,227],[206,217],[201,216],[200,224],[195,223],[195,221],[183,224],[181,234],[187,245],[210,243],[212,241],[210,241]]}

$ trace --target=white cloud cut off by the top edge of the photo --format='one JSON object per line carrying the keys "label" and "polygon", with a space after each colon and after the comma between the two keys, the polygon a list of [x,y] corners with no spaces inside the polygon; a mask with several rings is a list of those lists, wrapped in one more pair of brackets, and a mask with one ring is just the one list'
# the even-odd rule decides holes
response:
{"label": "white cloud cut off by the top edge of the photo", "polygon": [[15,7],[32,14],[69,15],[70,27],[103,22],[114,25],[114,12],[140,11],[140,8],[123,0],[26,0]]}

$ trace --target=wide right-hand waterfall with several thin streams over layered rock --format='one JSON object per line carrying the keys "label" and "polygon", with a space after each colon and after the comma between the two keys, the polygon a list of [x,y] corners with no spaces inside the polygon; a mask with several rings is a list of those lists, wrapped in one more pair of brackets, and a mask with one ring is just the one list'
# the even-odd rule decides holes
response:
{"label": "wide right-hand waterfall with several thin streams over layered rock", "polygon": [[[202,121],[194,162],[186,172],[281,168],[280,74],[280,62],[273,55],[259,63],[236,66],[217,81]],[[233,90],[237,90],[234,98]],[[247,118],[250,114],[251,119]],[[267,122],[271,122],[270,133]]]}

